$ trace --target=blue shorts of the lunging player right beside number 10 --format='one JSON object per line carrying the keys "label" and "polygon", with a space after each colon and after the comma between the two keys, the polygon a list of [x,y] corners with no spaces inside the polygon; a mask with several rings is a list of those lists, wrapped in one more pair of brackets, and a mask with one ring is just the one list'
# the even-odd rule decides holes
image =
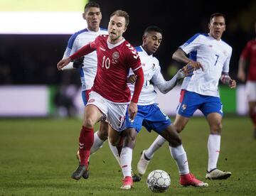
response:
{"label": "blue shorts of the lunging player right beside number 10", "polygon": [[134,128],[138,133],[142,129],[142,126],[149,132],[153,129],[157,133],[161,133],[171,124],[171,120],[161,111],[157,104],[151,104],[138,106],[138,112],[133,122],[129,120],[127,111],[125,123],[127,128]]}

